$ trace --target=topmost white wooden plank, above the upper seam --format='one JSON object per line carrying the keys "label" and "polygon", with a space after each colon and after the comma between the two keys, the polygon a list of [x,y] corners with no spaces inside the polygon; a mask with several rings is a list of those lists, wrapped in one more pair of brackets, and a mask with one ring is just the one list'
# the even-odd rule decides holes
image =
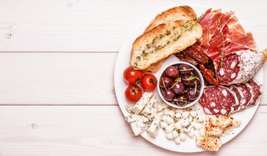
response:
{"label": "topmost white wooden plank, above the upper seam", "polygon": [[117,52],[136,24],[180,4],[236,11],[266,48],[267,1],[13,0],[0,2],[1,52]]}

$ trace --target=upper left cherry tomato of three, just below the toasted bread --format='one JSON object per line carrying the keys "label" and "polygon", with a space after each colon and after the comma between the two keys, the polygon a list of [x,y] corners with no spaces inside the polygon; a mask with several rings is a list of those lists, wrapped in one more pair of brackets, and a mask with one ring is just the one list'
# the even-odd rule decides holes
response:
{"label": "upper left cherry tomato of three, just below the toasted bread", "polygon": [[142,75],[142,71],[132,69],[132,67],[127,67],[123,72],[125,82],[130,85],[139,84],[142,79]]}

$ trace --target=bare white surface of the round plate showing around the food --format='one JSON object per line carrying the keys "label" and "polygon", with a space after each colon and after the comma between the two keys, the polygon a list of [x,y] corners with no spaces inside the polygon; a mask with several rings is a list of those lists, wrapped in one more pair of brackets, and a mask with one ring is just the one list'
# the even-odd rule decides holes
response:
{"label": "bare white surface of the round plate showing around the food", "polygon": [[[207,6],[201,6],[201,5],[196,5],[196,4],[187,4],[187,5],[191,6],[194,9],[194,11],[197,13],[197,16],[200,16],[201,13],[204,13],[207,9],[209,9],[209,7]],[[132,32],[128,35],[124,43],[122,43],[120,52],[117,55],[117,60],[115,63],[115,72],[114,72],[115,94],[117,97],[117,102],[119,103],[120,109],[124,116],[129,115],[129,113],[125,109],[125,106],[128,104],[130,105],[130,103],[127,101],[127,99],[125,99],[125,89],[127,88],[127,84],[125,83],[123,79],[123,71],[126,67],[129,67],[130,65],[129,62],[130,62],[130,53],[132,50],[132,43],[135,41],[135,39],[139,35],[143,33],[145,28],[147,28],[147,26],[150,24],[150,21],[152,21],[152,19],[155,18],[157,14],[167,9],[169,8],[162,9],[161,11],[154,13],[152,16],[150,16],[150,18],[147,18],[146,21],[140,22],[139,25],[134,30],[132,30]],[[164,65],[167,65],[175,61],[177,61],[177,57],[170,56],[167,60],[164,61]],[[155,77],[158,77],[158,74],[159,73],[156,72]],[[257,79],[258,82],[263,84],[263,69],[262,68],[256,74],[255,79]],[[157,100],[162,101],[159,98],[157,89],[155,89],[154,93],[157,96]],[[251,121],[251,118],[256,112],[256,109],[258,108],[258,104],[256,104],[256,106],[253,106],[251,108],[246,108],[244,111],[240,111],[232,115],[234,118],[241,119],[241,126],[239,126],[239,128],[234,128],[234,131],[231,134],[221,137],[222,143],[227,143],[229,140],[231,140],[236,135],[238,135],[241,132],[241,130],[243,130],[246,127],[246,125],[249,123],[249,121]],[[130,131],[129,133],[132,133],[132,131]],[[173,140],[167,140],[167,138],[165,138],[165,134],[162,129],[159,130],[157,138],[150,137],[150,135],[148,135],[147,132],[142,133],[142,137],[150,141],[150,143],[153,143],[167,150],[172,150],[172,151],[177,151],[177,152],[204,151],[201,147],[197,147],[194,138],[187,137],[186,141],[182,142],[180,145],[176,145]]]}

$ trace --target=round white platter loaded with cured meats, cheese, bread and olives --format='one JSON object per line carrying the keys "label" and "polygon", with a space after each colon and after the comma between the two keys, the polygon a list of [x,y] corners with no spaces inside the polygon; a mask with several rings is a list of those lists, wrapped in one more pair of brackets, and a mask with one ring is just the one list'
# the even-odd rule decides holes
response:
{"label": "round white platter loaded with cured meats, cheese, bread and olives", "polygon": [[[174,6],[162,11],[142,21],[122,43],[114,73],[118,104],[133,134],[142,135],[159,147],[177,152],[218,151],[221,145],[241,133],[256,112],[263,85],[261,65],[266,60],[266,53],[256,49],[253,35],[241,26],[233,11],[199,5]],[[187,13],[186,18],[181,11]],[[167,16],[164,19],[173,18],[174,13],[179,15],[175,17],[178,19],[162,23],[162,16]],[[179,21],[181,16],[182,21]],[[197,34],[199,31],[201,34]],[[174,62],[186,62],[197,67],[204,77],[203,84],[195,75],[197,72],[187,78],[194,80],[194,84],[181,83],[183,72],[190,72],[192,68],[175,66],[179,74],[173,78],[173,73],[169,74],[167,69]],[[135,86],[129,77],[125,78],[127,67],[127,70],[132,68],[143,72],[142,79],[134,82],[137,83]],[[145,83],[145,76],[150,76],[150,80],[156,79],[158,83]],[[160,87],[165,76],[172,80],[169,89],[163,85]],[[183,91],[175,93],[172,87],[179,83],[184,85]],[[201,90],[198,92],[197,85],[203,85],[203,93]],[[190,89],[193,94],[199,94],[199,100],[196,96],[197,103],[189,106],[194,99],[187,99],[183,103],[185,106],[181,107],[182,102],[177,97]],[[166,100],[167,90],[170,93],[174,91],[169,101]],[[134,91],[135,96],[131,96],[129,91]],[[186,97],[189,98],[188,94]]]}

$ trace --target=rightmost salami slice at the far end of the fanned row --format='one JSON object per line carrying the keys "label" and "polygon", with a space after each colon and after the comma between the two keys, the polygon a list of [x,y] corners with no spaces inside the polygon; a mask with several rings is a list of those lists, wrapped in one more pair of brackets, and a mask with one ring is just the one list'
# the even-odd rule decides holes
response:
{"label": "rightmost salami slice at the far end of the fanned row", "polygon": [[246,105],[246,108],[255,106],[261,97],[261,84],[251,79],[246,83],[246,86],[251,87],[251,100]]}

